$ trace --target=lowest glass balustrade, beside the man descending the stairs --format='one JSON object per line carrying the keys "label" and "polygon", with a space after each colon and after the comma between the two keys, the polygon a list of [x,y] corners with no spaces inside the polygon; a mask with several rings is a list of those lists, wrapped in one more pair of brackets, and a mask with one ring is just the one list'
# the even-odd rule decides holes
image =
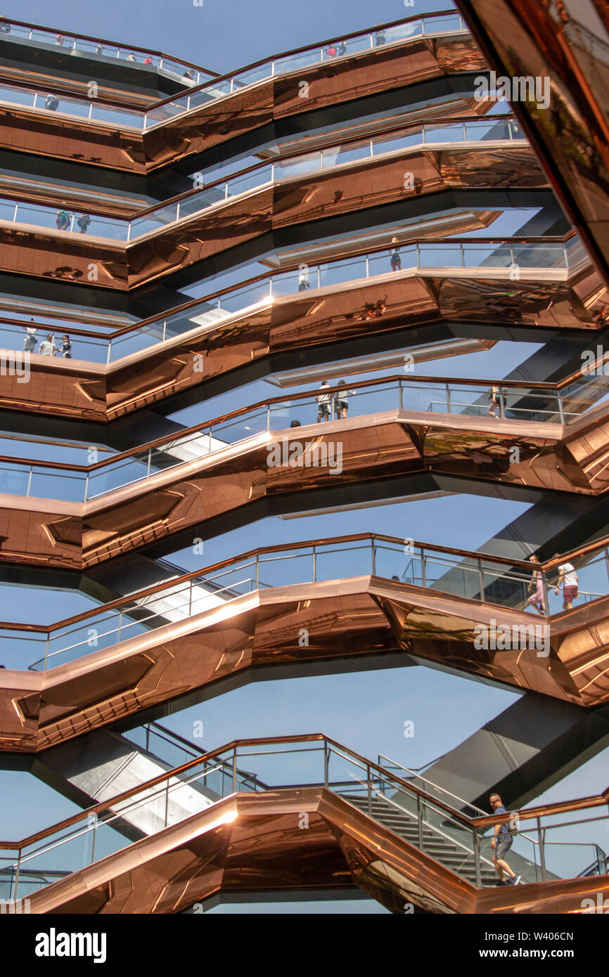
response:
{"label": "lowest glass balustrade, beside the man descending the stairs", "polygon": [[[243,774],[243,766],[255,768],[256,775]],[[240,741],[192,758],[128,797],[116,795],[68,823],[13,843],[1,856],[3,898],[27,898],[50,880],[125,849],[131,843],[125,823],[150,835],[207,807],[209,814],[201,825],[205,830],[239,817],[226,805],[209,808],[210,800],[284,787],[325,787],[470,884],[494,885],[493,823],[482,825],[484,813],[467,815],[456,803],[440,801],[401,773],[320,735]],[[491,818],[491,812],[486,817]],[[511,858],[525,884],[606,871],[607,856],[597,841],[606,833],[609,816],[600,799],[589,798],[584,807],[573,801],[566,809],[533,803],[510,817]]]}

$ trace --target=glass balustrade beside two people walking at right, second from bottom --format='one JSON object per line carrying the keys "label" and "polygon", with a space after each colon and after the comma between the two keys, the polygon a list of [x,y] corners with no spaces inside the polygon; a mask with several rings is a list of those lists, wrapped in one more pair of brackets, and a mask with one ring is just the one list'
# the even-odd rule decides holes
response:
{"label": "glass balustrade beside two people walking at right, second from bottom", "polygon": [[[565,562],[567,562],[565,560]],[[576,607],[609,593],[609,552],[599,547],[569,557],[579,574]],[[344,577],[374,576],[411,587],[497,608],[530,612],[531,627],[544,620],[531,604],[537,565],[513,565],[478,553],[457,553],[441,546],[381,537],[345,537],[331,543],[307,543],[270,553],[236,558],[215,571],[168,581],[153,594],[125,598],[116,606],[47,627],[0,627],[0,657],[8,668],[44,670],[141,639],[167,624],[192,628],[193,617],[223,609],[256,590]],[[558,570],[541,572],[550,615],[562,610],[563,594],[555,593]],[[529,635],[527,634],[525,637]],[[538,636],[539,637],[539,636]],[[540,640],[544,635],[541,636]]]}

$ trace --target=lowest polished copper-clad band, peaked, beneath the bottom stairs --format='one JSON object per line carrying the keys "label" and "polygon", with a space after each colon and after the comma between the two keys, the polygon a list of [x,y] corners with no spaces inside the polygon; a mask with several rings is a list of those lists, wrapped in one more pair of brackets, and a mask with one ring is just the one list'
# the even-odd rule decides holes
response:
{"label": "lowest polished copper-clad band, peaked, beneath the bottom stairs", "polygon": [[476,889],[333,791],[292,787],[222,800],[32,893],[30,912],[179,913],[222,891],[353,885],[394,913],[571,913],[609,877]]}

